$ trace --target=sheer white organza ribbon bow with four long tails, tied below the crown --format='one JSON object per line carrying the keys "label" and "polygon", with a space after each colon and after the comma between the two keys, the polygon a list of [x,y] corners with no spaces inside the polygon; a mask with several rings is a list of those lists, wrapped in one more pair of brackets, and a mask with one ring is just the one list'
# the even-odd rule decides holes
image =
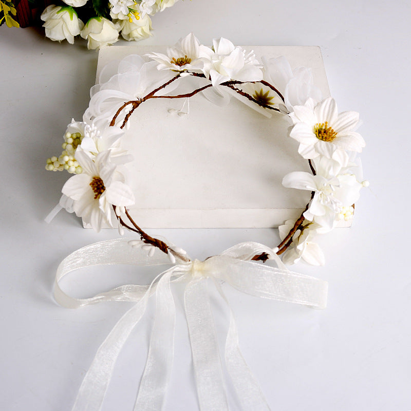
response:
{"label": "sheer white organza ribbon bow with four long tails, tied below the crown", "polygon": [[[263,252],[275,260],[276,268],[251,261],[254,255]],[[175,305],[171,292],[171,283],[174,281],[187,283],[184,308],[201,411],[229,410],[208,293],[209,277],[230,310],[224,358],[239,404],[245,411],[270,408],[241,355],[234,314],[221,289],[221,281],[247,294],[314,308],[325,308],[327,301],[326,282],[288,271],[272,249],[256,242],[237,244],[204,261],[178,260],[171,268],[160,273],[150,286],[124,285],[86,299],[70,297],[59,286],[61,279],[73,270],[110,264],[170,265],[170,260],[161,251],[148,257],[145,251],[130,247],[126,239],[120,238],[74,251],[60,264],[55,277],[54,296],[62,306],[78,308],[101,301],[136,302],[99,347],[81,384],[73,411],[101,409],[119,353],[143,316],[148,298],[153,294],[156,298],[156,314],[134,411],[163,409],[174,352]]]}

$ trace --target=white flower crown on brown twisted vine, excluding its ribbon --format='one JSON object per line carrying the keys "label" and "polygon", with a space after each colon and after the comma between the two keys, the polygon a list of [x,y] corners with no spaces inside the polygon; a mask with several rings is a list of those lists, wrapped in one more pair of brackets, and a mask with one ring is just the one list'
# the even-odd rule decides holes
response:
{"label": "white flower crown on brown twisted vine, excluding its ribbon", "polygon": [[[187,261],[184,250],[148,235],[127,210],[135,199],[126,183],[124,164],[130,156],[121,146],[124,127],[148,100],[188,101],[202,92],[213,101],[230,90],[249,106],[290,118],[289,136],[300,143],[298,153],[308,160],[311,173],[289,173],[283,185],[310,191],[311,199],[296,221],[285,221],[279,227],[282,241],[272,250],[283,254],[286,264],[303,258],[309,264],[323,265],[323,252],[312,239],[331,231],[339,220],[350,220],[361,188],[368,185],[357,156],[365,146],[355,131],[359,114],[339,114],[334,99],[321,100],[309,69],[291,70],[282,57],[262,59],[261,64],[252,51],[246,52],[223,38],[213,40],[210,48],[191,33],[167,48],[166,54],[153,52],[145,59],[132,56],[123,62],[127,71],[92,89],[83,121],[72,120],[64,135],[62,154],[47,160],[46,170],[74,174],[63,186],[60,206],[75,212],[96,231],[103,224],[113,227],[117,222],[121,234],[124,229],[137,233],[140,239],[130,245],[141,247],[149,256],[158,248],[172,263],[176,257]],[[127,76],[126,86],[120,81],[122,75]],[[177,84],[188,78],[198,78],[200,86],[185,94],[173,94]],[[216,93],[210,94],[210,90]],[[185,114],[182,109],[174,111]],[[264,252],[252,260],[268,258],[269,253]]]}

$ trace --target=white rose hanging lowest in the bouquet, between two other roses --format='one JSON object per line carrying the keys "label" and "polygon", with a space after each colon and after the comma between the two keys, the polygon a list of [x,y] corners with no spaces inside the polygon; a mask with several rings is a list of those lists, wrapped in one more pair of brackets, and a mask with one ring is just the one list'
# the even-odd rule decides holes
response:
{"label": "white rose hanging lowest in the bouquet, between two other roses", "polygon": [[104,17],[91,17],[81,30],[83,39],[87,39],[87,48],[95,50],[118,41],[118,26]]}

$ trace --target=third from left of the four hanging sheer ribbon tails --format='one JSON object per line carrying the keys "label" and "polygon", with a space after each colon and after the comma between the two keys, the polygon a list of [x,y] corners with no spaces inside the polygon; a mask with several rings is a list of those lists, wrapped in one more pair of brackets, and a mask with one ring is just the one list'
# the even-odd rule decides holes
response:
{"label": "third from left of the four hanging sheer ribbon tails", "polygon": [[184,291],[197,396],[201,411],[228,411],[207,280],[193,279]]}

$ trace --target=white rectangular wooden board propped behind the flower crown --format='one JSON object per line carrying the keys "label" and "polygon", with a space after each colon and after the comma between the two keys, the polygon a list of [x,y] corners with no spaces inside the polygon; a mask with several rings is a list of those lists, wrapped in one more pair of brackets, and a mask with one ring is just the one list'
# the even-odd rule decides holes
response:
{"label": "white rectangular wooden board propped behind the flower crown", "polygon": [[[128,54],[164,52],[166,46],[118,46],[100,50],[97,68]],[[310,67],[314,84],[329,96],[319,47],[244,46],[258,59],[284,55],[292,68]],[[113,64],[113,63],[110,63]],[[114,63],[115,64],[115,63]],[[219,107],[204,96],[190,99],[190,113],[169,108],[182,100],[157,99],[134,113],[124,147],[133,154],[131,213],[145,228],[278,227],[296,218],[310,193],[285,189],[291,171],[309,171],[287,137],[290,121],[273,113],[266,118],[232,98]]]}

